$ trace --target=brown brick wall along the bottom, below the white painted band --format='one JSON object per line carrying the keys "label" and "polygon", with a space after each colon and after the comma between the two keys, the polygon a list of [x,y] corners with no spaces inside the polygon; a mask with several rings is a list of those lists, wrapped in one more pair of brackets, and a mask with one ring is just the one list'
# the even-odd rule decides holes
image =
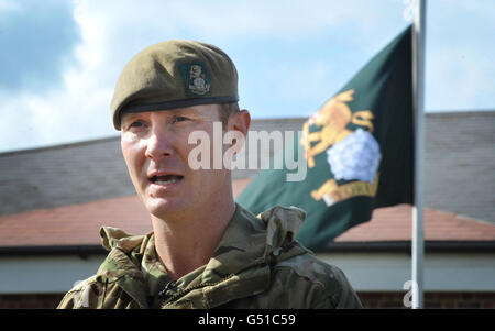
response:
{"label": "brown brick wall along the bottom, below the white painted band", "polygon": [[[404,309],[405,293],[358,293],[363,306],[371,309]],[[0,309],[57,307],[64,295],[0,295]],[[494,309],[495,293],[426,293],[425,308]]]}

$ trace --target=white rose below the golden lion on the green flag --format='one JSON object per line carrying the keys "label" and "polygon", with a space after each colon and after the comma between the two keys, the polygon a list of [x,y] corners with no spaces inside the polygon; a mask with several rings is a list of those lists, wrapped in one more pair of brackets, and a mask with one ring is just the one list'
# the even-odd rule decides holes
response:
{"label": "white rose below the golden lion on the green flag", "polygon": [[358,129],[327,150],[334,178],[373,183],[380,167],[380,145],[374,136]]}

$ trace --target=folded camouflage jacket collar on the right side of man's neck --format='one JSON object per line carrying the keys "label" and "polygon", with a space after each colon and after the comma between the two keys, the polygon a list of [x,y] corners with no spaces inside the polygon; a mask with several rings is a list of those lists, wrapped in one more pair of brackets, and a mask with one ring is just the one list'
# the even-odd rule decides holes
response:
{"label": "folded camouflage jacket collar on the right side of man's neck", "polygon": [[201,284],[165,302],[164,308],[215,308],[265,291],[271,267],[307,251],[294,245],[305,219],[296,208],[275,207],[255,217],[237,205],[222,240],[201,274]]}

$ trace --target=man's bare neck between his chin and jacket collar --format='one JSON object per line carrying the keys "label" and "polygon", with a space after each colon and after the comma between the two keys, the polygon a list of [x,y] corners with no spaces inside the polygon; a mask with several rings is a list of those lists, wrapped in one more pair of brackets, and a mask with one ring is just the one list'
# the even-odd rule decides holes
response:
{"label": "man's bare neck between his chin and jacket collar", "polygon": [[235,212],[229,202],[210,203],[200,212],[180,219],[152,216],[156,253],[173,279],[208,263]]}

